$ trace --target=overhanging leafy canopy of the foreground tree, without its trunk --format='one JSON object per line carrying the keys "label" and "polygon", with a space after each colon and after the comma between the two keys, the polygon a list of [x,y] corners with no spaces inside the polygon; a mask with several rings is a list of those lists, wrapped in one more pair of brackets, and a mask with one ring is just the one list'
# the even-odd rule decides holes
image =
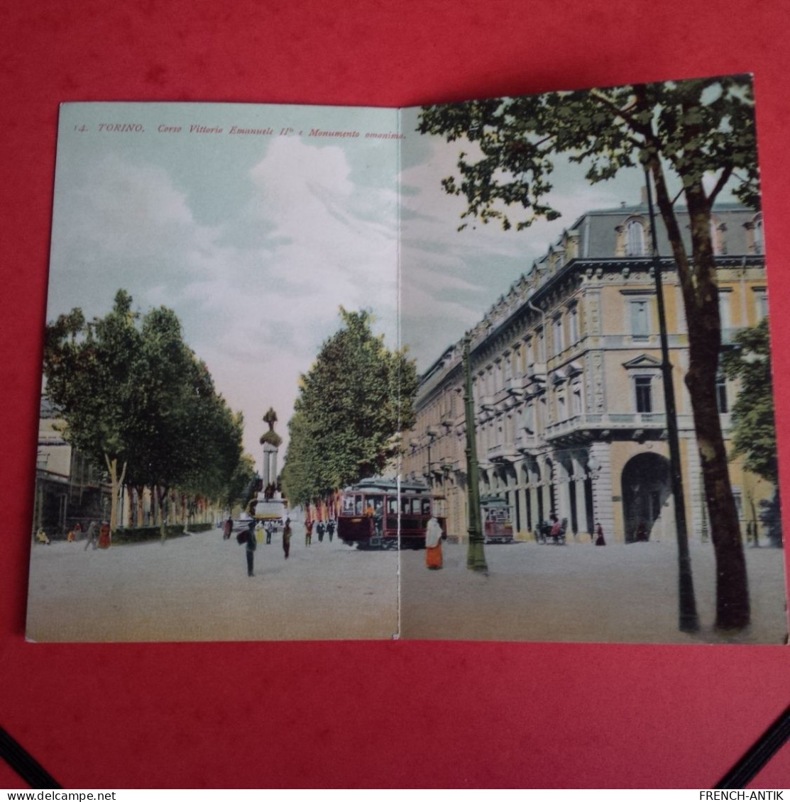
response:
{"label": "overhanging leafy canopy of the foreground tree, without its trunk", "polygon": [[466,196],[463,218],[498,221],[503,229],[514,223],[511,210],[524,212],[515,220],[518,229],[538,217],[560,216],[546,199],[560,153],[588,164],[591,182],[621,168],[666,165],[688,195],[702,190],[703,176],[715,175],[719,183],[706,194],[709,204],[737,176],[739,198],[759,204],[749,76],[429,106],[417,130],[474,143],[474,154],[460,152],[458,175],[442,185]]}

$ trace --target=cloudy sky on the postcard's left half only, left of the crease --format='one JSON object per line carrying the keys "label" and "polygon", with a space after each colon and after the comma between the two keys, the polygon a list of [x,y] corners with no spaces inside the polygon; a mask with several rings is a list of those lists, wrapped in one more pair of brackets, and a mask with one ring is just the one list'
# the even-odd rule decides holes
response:
{"label": "cloudy sky on the postcard's left half only, left of the crease", "polygon": [[[223,132],[190,132],[197,125]],[[231,135],[234,125],[275,132]],[[64,106],[47,319],[74,306],[104,315],[120,287],[142,312],[175,310],[243,411],[259,462],[263,413],[275,407],[287,435],[299,374],[337,330],[340,305],[372,309],[396,342],[398,140],[364,137],[396,130],[392,110]]]}

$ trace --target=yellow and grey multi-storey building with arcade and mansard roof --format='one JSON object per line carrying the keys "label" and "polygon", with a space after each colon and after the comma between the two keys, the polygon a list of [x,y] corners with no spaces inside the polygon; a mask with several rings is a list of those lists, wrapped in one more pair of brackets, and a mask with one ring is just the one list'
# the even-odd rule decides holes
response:
{"label": "yellow and grey multi-storey building with arcade and mansard roof", "polygon": [[[687,215],[678,215],[688,231]],[[739,205],[715,209],[723,343],[768,314],[762,219]],[[645,205],[585,213],[471,331],[474,410],[483,497],[507,501],[517,537],[540,521],[568,520],[569,541],[674,537],[658,308]],[[670,253],[658,221],[658,249]],[[708,536],[691,403],[681,290],[662,258],[689,537]],[[445,496],[448,533],[466,537],[466,427],[462,342],[421,377],[417,423],[402,472]],[[721,380],[725,438],[736,393]],[[774,488],[730,466],[742,532],[758,525]],[[751,529],[751,528],[750,528]]]}

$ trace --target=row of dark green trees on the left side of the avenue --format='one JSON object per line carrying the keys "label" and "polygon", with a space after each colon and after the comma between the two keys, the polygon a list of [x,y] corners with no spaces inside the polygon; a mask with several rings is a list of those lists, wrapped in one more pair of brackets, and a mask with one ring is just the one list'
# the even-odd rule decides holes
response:
{"label": "row of dark green trees on the left side of the avenue", "polygon": [[104,318],[75,308],[47,325],[46,394],[65,421],[64,437],[107,469],[110,525],[124,486],[136,489],[137,518],[149,488],[162,506],[171,488],[230,503],[254,473],[242,456],[241,413],[214,388],[164,306],[146,314],[118,290]]}

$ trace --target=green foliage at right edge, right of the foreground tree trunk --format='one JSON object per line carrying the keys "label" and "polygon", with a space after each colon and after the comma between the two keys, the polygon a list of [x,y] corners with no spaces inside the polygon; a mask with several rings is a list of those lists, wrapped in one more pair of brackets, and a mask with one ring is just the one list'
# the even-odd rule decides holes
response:
{"label": "green foliage at right edge, right of the foreground tree trunk", "polygon": [[728,379],[738,379],[740,383],[732,407],[733,456],[743,455],[747,470],[777,484],[768,318],[735,335],[735,348],[724,354],[723,369]]}

